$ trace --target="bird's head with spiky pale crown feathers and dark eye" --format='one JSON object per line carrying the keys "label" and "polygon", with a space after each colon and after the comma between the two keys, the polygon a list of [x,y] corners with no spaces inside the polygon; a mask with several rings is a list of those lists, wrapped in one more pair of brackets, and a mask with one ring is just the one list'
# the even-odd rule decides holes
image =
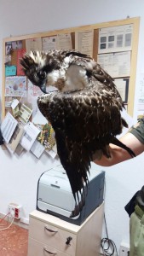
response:
{"label": "bird's head with spiky pale crown feathers and dark eye", "polygon": [[26,77],[46,93],[46,85],[53,85],[49,73],[59,69],[59,62],[53,55],[43,51],[31,51],[20,59],[20,65]]}

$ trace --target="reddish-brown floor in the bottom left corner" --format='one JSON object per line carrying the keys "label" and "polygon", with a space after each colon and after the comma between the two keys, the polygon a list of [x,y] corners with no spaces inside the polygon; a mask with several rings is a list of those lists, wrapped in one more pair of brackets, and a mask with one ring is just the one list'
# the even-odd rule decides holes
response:
{"label": "reddish-brown floor in the bottom left corner", "polygon": [[28,230],[0,221],[0,256],[27,256]]}

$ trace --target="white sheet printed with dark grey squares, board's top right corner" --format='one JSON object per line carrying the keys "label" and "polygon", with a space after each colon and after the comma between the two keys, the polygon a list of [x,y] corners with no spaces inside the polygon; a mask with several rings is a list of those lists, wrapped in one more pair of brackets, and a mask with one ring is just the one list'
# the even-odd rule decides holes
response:
{"label": "white sheet printed with dark grey squares, board's top right corner", "polygon": [[98,53],[131,50],[132,35],[132,24],[100,28]]}

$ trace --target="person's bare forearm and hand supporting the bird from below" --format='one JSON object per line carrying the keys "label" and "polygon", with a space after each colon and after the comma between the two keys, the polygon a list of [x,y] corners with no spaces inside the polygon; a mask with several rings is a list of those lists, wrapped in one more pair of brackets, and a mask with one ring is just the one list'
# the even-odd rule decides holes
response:
{"label": "person's bare forearm and hand supporting the bird from below", "polygon": [[[120,141],[131,148],[135,155],[141,154],[144,151],[144,143],[141,143],[141,141],[130,132],[126,133],[124,137],[121,137]],[[131,159],[130,154],[126,150],[113,144],[110,144],[110,152],[112,155],[111,158],[107,158],[103,155],[101,160],[95,160],[94,155],[93,161],[99,166],[113,166],[122,161]]]}

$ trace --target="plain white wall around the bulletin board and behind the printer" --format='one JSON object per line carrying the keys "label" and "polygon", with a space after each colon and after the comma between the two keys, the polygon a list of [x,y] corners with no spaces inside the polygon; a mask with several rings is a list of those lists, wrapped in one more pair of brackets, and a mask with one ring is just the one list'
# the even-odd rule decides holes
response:
{"label": "plain white wall around the bulletin board and behind the printer", "polygon": [[[0,86],[2,84],[3,38],[34,32],[46,32],[72,26],[95,24],[141,16],[140,43],[137,63],[135,116],[140,73],[144,70],[144,1],[142,0],[0,0]],[[127,117],[130,119],[130,117]],[[130,119],[135,122],[136,119]],[[0,148],[0,212],[14,201],[23,206],[23,218],[36,207],[37,180],[57,161],[43,155],[36,160],[32,154],[11,157]],[[100,166],[97,166],[101,169]],[[119,248],[129,239],[129,218],[125,204],[144,183],[143,154],[106,170],[106,218],[109,238]],[[96,227],[95,227],[96,228]]]}

